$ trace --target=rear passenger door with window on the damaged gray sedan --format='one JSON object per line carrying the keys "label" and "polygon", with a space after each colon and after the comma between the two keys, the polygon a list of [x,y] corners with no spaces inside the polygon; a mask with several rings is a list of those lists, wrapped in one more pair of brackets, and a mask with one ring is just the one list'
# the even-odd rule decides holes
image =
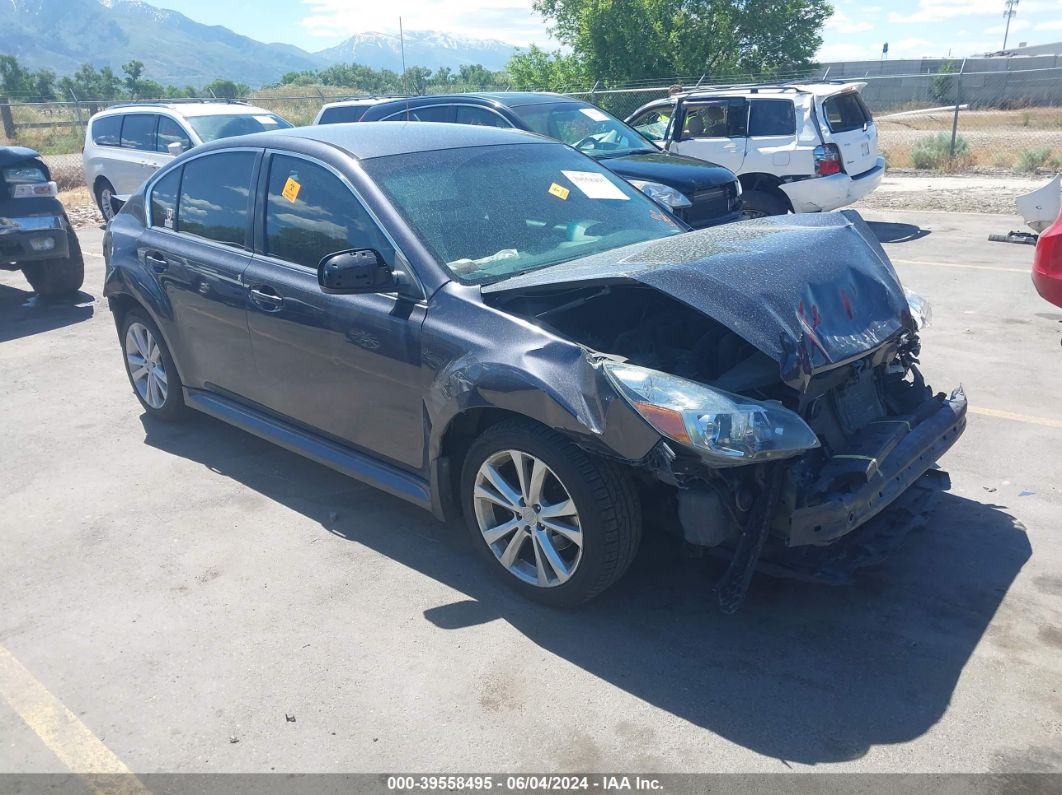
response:
{"label": "rear passenger door with window on the damaged gray sedan", "polygon": [[246,397],[256,378],[243,275],[260,150],[188,160],[149,192],[138,257],[161,286],[185,385]]}

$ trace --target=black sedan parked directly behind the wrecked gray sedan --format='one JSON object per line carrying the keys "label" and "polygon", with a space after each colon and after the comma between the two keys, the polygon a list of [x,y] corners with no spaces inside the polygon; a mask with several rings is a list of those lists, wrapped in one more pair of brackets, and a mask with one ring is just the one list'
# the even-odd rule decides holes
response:
{"label": "black sedan parked directly behind the wrecked gray sedan", "polygon": [[[380,102],[361,121],[428,121],[513,127],[555,138],[589,155],[701,229],[741,219],[741,184],[730,169],[661,151],[599,107],[556,93],[434,94]],[[322,116],[320,123],[329,121]]]}

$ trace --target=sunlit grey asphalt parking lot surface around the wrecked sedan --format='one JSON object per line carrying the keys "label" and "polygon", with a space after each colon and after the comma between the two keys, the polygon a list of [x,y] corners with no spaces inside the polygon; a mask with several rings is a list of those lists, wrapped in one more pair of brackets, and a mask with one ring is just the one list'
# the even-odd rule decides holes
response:
{"label": "sunlit grey asphalt parking lot surface around the wrecked sedan", "polygon": [[76,303],[0,273],[0,772],[1062,771],[1062,310],[987,241],[1017,219],[867,218],[970,396],[954,488],[857,585],[758,577],[734,616],[667,545],[538,607],[458,526],[149,421],[98,229]]}

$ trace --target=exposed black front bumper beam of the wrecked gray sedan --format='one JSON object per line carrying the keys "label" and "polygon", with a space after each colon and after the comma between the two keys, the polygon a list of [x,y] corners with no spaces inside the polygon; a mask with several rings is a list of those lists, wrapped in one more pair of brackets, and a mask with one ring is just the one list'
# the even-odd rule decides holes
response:
{"label": "exposed black front bumper beam of the wrecked gray sedan", "polygon": [[789,513],[781,528],[788,546],[829,543],[872,519],[910,488],[965,430],[966,396],[961,387],[939,402],[932,414],[891,449],[861,456],[870,472],[862,482],[830,490],[819,501]]}

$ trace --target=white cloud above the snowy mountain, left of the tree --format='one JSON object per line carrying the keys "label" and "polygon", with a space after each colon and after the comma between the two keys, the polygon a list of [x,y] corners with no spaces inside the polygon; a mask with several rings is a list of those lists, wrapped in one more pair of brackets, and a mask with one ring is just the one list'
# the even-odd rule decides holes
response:
{"label": "white cloud above the snowy mountain, left of the tree", "polygon": [[311,36],[335,39],[355,33],[398,32],[398,17],[408,31],[443,31],[472,38],[497,38],[526,47],[555,48],[542,17],[520,0],[398,0],[394,3],[352,3],[349,0],[303,0],[309,15],[303,28]]}

